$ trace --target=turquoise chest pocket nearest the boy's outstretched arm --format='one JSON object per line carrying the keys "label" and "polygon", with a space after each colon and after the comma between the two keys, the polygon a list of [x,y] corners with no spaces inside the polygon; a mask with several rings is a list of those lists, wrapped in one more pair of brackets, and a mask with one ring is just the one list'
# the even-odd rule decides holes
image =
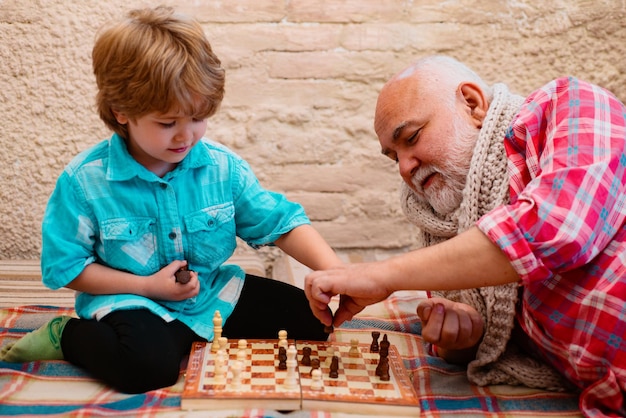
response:
{"label": "turquoise chest pocket nearest the boy's outstretched arm", "polygon": [[183,218],[190,262],[217,269],[237,246],[235,207],[232,203],[209,206]]}

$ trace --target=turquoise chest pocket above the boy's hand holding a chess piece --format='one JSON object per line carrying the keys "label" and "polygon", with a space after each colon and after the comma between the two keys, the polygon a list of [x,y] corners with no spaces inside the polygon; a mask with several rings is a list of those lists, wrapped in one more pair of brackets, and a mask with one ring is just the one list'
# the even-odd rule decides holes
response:
{"label": "turquoise chest pocket above the boy's hand holding a chess piece", "polygon": [[142,276],[159,270],[155,218],[108,219],[100,231],[106,265]]}

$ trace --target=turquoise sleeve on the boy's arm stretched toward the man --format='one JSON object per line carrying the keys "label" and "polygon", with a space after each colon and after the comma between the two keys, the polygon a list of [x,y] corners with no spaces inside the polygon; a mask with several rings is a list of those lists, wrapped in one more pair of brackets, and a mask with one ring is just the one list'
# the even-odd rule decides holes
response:
{"label": "turquoise sleeve on the boy's arm stretched toward the man", "polygon": [[246,161],[241,160],[236,169],[235,223],[237,235],[248,245],[272,245],[297,226],[310,223],[302,205],[264,189]]}

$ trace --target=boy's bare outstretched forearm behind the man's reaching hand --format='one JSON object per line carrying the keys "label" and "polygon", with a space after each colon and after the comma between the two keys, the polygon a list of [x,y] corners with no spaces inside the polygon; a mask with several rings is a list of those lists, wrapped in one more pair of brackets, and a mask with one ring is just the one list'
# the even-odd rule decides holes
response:
{"label": "boy's bare outstretched forearm behind the man's reaching hand", "polygon": [[276,246],[313,270],[339,267],[343,263],[311,225],[300,225],[275,242]]}

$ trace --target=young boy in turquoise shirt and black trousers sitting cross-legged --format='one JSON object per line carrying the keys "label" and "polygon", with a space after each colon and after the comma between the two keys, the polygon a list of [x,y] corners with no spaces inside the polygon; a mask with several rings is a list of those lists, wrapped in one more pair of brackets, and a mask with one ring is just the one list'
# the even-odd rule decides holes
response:
{"label": "young boy in turquoise shirt and black trousers sitting cross-legged", "polygon": [[236,237],[313,269],[341,262],[300,205],[203,138],[224,70],[200,25],[166,7],[132,11],[100,34],[93,69],[114,134],[66,167],[43,220],[43,282],[78,291],[80,319],[53,319],[0,360],[65,359],[141,393],[176,383],[216,311],[228,338],[326,339],[300,289],[223,265]]}

